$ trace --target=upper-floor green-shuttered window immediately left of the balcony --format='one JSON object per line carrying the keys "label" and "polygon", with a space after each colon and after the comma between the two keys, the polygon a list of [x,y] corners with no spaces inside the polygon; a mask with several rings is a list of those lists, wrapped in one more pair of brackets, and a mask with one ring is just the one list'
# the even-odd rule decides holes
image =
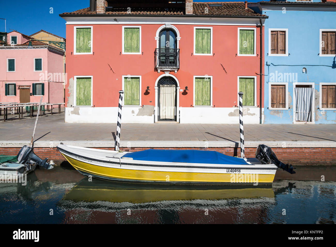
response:
{"label": "upper-floor green-shuttered window immediately left of the balcony", "polygon": [[141,26],[123,26],[122,29],[122,54],[141,54]]}

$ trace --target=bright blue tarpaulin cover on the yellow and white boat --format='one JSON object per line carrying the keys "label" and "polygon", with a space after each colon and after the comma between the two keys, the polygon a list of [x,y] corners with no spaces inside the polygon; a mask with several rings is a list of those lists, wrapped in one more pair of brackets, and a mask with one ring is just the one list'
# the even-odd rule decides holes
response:
{"label": "bright blue tarpaulin cover on the yellow and white boat", "polygon": [[129,157],[133,158],[133,160],[142,161],[247,165],[247,162],[242,158],[227,156],[216,151],[207,150],[147,149],[125,154],[123,157]]}

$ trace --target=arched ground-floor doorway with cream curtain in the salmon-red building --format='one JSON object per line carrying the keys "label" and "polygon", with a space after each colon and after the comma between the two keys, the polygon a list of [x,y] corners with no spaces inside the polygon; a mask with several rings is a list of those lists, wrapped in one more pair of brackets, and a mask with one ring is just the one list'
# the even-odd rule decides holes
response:
{"label": "arched ground-floor doorway with cream curtain in the salmon-red building", "polygon": [[177,121],[178,83],[172,76],[157,81],[157,121]]}

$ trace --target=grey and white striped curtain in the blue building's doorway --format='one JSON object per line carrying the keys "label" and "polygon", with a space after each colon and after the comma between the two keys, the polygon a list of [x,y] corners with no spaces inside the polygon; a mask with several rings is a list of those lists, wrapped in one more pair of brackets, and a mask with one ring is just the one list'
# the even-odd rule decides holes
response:
{"label": "grey and white striped curtain in the blue building's doorway", "polygon": [[296,98],[296,121],[310,122],[311,106],[313,100],[313,88],[311,87],[295,87]]}

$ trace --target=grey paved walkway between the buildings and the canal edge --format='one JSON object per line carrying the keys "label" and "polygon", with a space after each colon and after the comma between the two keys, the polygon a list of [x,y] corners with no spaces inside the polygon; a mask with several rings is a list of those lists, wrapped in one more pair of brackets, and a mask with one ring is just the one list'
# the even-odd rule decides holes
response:
{"label": "grey paved walkway between the buildings and the canal edge", "polygon": [[[62,109],[64,110],[64,109]],[[30,141],[34,118],[0,122],[0,141]],[[113,141],[116,124],[64,123],[61,114],[39,117],[35,140]],[[245,124],[245,141],[336,141],[335,124]],[[122,141],[237,141],[239,124],[123,124]]]}

